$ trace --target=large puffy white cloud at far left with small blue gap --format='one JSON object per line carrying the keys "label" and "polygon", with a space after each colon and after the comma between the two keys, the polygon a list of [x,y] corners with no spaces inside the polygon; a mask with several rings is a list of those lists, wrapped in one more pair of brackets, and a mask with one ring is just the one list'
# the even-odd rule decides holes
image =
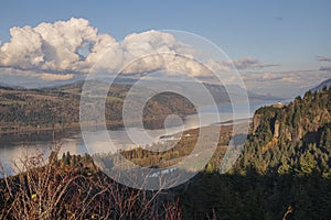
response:
{"label": "large puffy white cloud at far left with small blue gap", "polygon": [[[11,40],[0,48],[2,67],[51,73],[87,73],[107,46],[116,41],[89,25],[87,20],[71,19],[55,23],[41,23],[35,28],[10,29]],[[88,57],[82,58],[77,50],[90,46]]]}

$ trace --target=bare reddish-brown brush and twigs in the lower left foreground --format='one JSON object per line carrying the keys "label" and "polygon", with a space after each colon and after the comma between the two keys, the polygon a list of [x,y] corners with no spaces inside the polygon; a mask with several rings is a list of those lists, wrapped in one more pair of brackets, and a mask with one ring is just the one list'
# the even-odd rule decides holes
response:
{"label": "bare reddish-brown brush and twigs in the lower left foreground", "polygon": [[26,155],[22,173],[1,179],[0,219],[181,219],[178,201],[160,199],[161,191],[119,185],[88,158],[67,165],[57,153]]}

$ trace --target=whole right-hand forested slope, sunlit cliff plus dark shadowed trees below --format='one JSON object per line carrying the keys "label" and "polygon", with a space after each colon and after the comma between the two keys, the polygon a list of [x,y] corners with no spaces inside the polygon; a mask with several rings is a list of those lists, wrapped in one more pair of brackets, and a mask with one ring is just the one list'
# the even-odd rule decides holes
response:
{"label": "whole right-hand forested slope, sunlit cliff plus dark shadowed trees below", "polygon": [[211,162],[178,190],[184,218],[330,219],[330,124],[331,88],[260,108],[232,170]]}

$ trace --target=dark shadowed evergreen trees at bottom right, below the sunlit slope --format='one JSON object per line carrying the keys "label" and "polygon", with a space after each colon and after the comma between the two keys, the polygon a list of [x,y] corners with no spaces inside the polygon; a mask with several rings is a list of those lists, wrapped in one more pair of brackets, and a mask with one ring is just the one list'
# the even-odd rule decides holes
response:
{"label": "dark shadowed evergreen trees at bottom right, below the sunlit slope", "polygon": [[[185,190],[183,189],[184,187]],[[247,170],[220,175],[205,173],[180,194],[184,219],[329,219],[331,179],[317,175],[260,175]]]}

